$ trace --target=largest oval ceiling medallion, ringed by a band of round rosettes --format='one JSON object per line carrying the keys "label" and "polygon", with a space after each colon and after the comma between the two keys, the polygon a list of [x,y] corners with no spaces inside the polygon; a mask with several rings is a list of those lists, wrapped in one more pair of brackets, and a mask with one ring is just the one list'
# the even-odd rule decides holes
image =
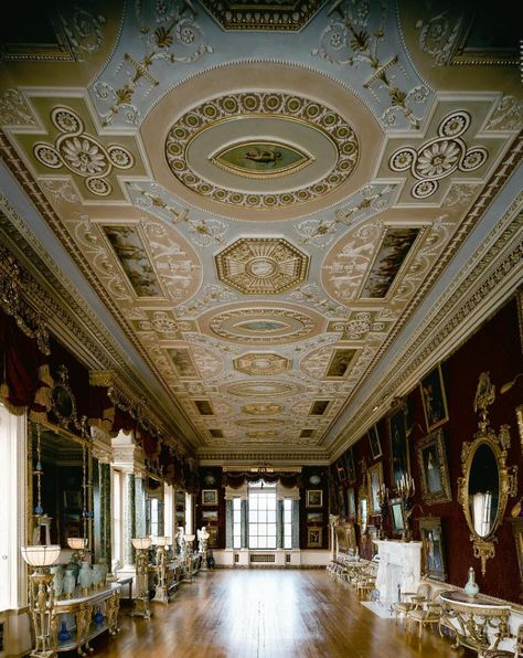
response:
{"label": "largest oval ceiling medallion, ringed by a band of round rosettes", "polygon": [[[245,181],[246,162],[249,159],[245,159],[245,145],[241,147],[236,142],[232,146],[228,141],[225,147],[227,150],[217,151],[220,162],[222,167],[225,162],[227,168],[232,163],[237,167],[241,162],[242,172],[234,171],[238,179],[228,188],[224,184],[214,184],[189,164],[189,149],[192,142],[202,137],[204,131],[211,132],[214,129],[221,129],[224,124],[230,125],[231,119],[255,119],[260,123],[260,126],[266,126],[263,121],[268,119],[278,119],[279,121],[289,121],[288,130],[290,132],[298,125],[313,130],[321,136],[323,141],[333,147],[335,158],[332,167],[319,179],[302,184],[296,181],[296,187],[289,187],[281,192],[255,189],[242,191],[239,181]],[[259,129],[262,130],[262,128]],[[258,173],[267,174],[279,167],[279,161],[282,164],[296,157],[291,156],[289,145],[275,142],[273,146],[271,140],[263,137],[263,135],[252,136],[250,145],[247,146],[249,151],[252,150],[250,162],[256,164],[255,170]],[[273,151],[266,148],[267,146],[271,147]],[[292,149],[295,153],[298,152],[295,145],[292,145]],[[206,100],[182,115],[168,132],[164,151],[167,162],[174,177],[198,194],[235,206],[273,209],[305,203],[338,188],[353,172],[357,163],[360,146],[351,126],[334,110],[316,100],[280,92],[247,92]],[[266,151],[265,156],[263,151]],[[276,156],[276,151],[279,151],[280,158]],[[211,152],[210,157],[216,158],[215,153],[216,150]],[[309,159],[310,161],[311,159]],[[288,170],[287,176],[290,176],[289,171],[296,171],[296,168]],[[282,172],[280,173],[282,174]]]}

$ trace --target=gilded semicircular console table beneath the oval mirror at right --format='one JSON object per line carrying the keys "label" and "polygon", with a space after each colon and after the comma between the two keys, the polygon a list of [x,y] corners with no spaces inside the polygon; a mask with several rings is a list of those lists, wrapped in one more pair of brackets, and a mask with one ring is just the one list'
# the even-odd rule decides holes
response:
{"label": "gilded semicircular console table beneath the oval mirror at right", "polygon": [[[442,604],[439,625],[456,635],[453,648],[463,645],[481,652],[489,648],[497,649],[502,639],[510,637],[509,604],[483,596],[470,597],[457,590],[441,592],[439,597]],[[489,630],[495,630],[493,638],[489,638]]]}

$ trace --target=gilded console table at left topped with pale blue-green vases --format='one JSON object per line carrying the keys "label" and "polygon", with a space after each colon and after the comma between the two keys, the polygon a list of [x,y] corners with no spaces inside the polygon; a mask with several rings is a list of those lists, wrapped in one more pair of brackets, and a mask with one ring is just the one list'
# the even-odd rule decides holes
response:
{"label": "gilded console table at left topped with pale blue-green vases", "polygon": [[[116,635],[118,628],[118,609],[120,607],[119,583],[110,583],[103,590],[93,590],[87,596],[82,596],[79,588],[73,594],[73,598],[63,598],[55,601],[54,609],[57,616],[57,630],[61,630],[62,622],[65,622],[66,630],[71,638],[56,638],[56,651],[71,651],[75,649],[79,656],[87,656],[87,651],[93,651],[89,641],[104,633]],[[103,619],[97,624],[94,619],[95,614],[99,612]],[[67,628],[67,619],[74,618],[74,625]],[[84,648],[83,648],[84,647]]]}

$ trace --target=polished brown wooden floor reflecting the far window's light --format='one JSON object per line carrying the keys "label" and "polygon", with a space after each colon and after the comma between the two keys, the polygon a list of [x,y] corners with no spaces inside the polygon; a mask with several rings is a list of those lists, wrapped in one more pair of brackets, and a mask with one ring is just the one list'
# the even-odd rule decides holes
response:
{"label": "polished brown wooden floor reflecting the far window's light", "polygon": [[[215,570],[184,584],[147,622],[120,609],[121,633],[95,656],[147,658],[456,657],[447,638],[382,619],[320,570]],[[472,654],[468,654],[472,656]],[[463,655],[465,656],[465,655]]]}

